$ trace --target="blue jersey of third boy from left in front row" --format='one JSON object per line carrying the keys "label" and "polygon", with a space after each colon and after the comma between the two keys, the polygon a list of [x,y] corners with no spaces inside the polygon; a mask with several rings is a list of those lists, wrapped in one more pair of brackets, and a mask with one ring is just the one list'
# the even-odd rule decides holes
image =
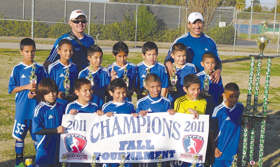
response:
{"label": "blue jersey of third boy from left in front row", "polygon": [[131,114],[135,113],[134,105],[130,101],[124,100],[122,103],[109,101],[102,106],[102,111],[113,112],[113,114]]}

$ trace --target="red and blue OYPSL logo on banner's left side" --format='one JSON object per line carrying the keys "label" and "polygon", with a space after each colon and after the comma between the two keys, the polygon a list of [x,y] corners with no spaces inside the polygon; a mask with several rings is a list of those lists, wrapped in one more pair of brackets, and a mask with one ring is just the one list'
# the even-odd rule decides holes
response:
{"label": "red and blue OYPSL logo on banner's left side", "polygon": [[67,134],[64,142],[67,150],[72,153],[81,153],[87,144],[86,137],[78,134]]}

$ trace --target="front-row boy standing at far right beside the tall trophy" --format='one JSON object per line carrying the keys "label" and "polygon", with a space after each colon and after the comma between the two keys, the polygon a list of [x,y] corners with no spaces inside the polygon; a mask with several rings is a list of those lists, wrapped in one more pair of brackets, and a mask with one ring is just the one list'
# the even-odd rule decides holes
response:
{"label": "front-row boy standing at far right beside the tall trophy", "polygon": [[244,124],[242,122],[244,106],[238,102],[239,95],[238,85],[235,83],[225,85],[223,97],[226,100],[218,105],[212,114],[209,137],[215,156],[213,167],[231,166],[232,157],[239,152],[241,124]]}

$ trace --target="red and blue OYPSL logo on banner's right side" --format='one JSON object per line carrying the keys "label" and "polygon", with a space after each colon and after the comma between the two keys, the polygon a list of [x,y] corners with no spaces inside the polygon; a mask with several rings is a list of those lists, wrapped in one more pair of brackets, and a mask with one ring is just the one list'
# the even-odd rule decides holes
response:
{"label": "red and blue OYPSL logo on banner's right side", "polygon": [[203,137],[197,135],[186,135],[183,138],[183,145],[186,153],[197,154],[203,146]]}

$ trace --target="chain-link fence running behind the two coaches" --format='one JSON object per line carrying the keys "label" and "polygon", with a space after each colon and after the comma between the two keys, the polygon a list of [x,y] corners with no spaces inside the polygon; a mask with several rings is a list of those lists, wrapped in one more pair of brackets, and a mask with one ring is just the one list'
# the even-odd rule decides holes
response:
{"label": "chain-link fence running behind the two coaches", "polygon": [[[34,3],[34,5],[33,5]],[[33,10],[34,9],[34,10]],[[188,29],[184,26],[187,9],[181,6],[140,5],[133,3],[14,0],[0,9],[0,36],[57,39],[70,30],[68,20],[73,10],[87,15],[86,33],[104,41],[173,42]],[[33,17],[32,17],[33,15]],[[33,21],[32,21],[33,18]],[[251,19],[252,18],[252,19]],[[268,20],[268,48],[278,53],[279,14],[237,12],[234,7],[216,9],[206,33],[219,48],[229,51],[256,48],[262,21]],[[33,28],[32,28],[33,25]],[[274,51],[273,50],[273,51]]]}

